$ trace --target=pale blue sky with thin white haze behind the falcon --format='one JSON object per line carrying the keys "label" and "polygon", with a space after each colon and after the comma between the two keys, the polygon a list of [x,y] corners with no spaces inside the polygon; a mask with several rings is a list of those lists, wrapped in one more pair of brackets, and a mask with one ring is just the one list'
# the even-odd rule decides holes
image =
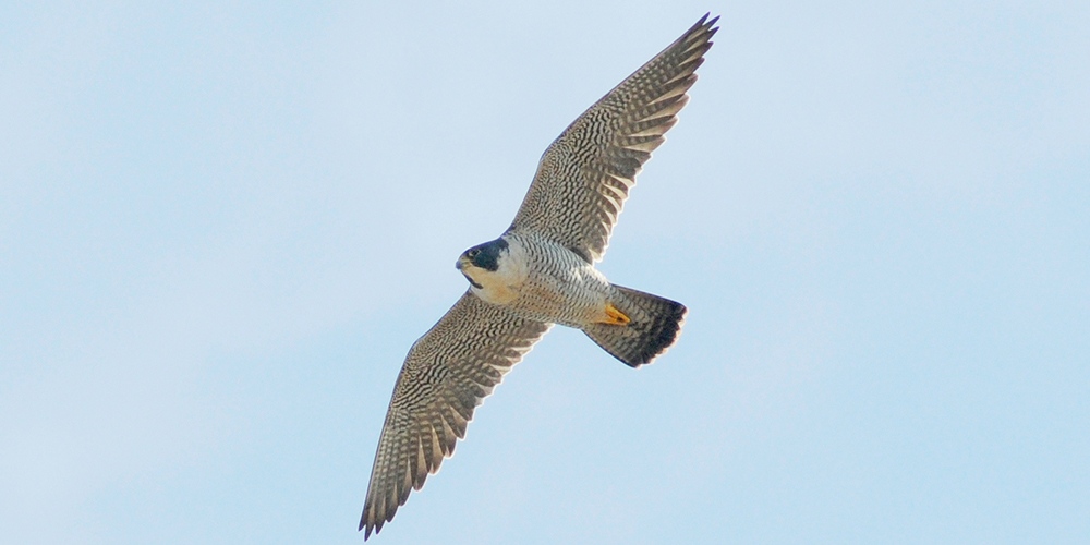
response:
{"label": "pale blue sky with thin white haze behind the falcon", "polygon": [[1087,2],[0,4],[0,541],[358,543],[409,346],[722,29],[601,268],[368,543],[1086,543]]}

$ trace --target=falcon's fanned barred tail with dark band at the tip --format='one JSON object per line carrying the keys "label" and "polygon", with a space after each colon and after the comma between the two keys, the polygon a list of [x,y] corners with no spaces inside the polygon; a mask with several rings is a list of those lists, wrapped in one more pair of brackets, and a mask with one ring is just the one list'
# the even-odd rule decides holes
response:
{"label": "falcon's fanned barred tail with dark band at the tip", "polygon": [[688,310],[683,304],[642,291],[614,286],[609,301],[629,322],[591,324],[583,332],[600,347],[632,367],[651,363],[677,342]]}

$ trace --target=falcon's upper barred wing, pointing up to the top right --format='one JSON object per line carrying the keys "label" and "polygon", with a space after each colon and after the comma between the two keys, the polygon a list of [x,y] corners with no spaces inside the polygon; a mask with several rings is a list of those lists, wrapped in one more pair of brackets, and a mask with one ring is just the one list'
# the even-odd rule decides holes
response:
{"label": "falcon's upper barred wing, pointing up to the top right", "polygon": [[602,258],[635,175],[689,101],[718,19],[701,17],[565,129],[542,156],[511,231],[542,234],[590,263]]}

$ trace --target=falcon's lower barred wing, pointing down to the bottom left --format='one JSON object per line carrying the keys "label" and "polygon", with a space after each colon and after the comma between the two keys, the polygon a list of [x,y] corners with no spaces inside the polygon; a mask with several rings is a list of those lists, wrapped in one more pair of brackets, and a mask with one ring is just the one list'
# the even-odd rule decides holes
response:
{"label": "falcon's lower barred wing, pointing down to the bottom left", "polygon": [[465,436],[473,409],[552,324],[519,318],[467,291],[405,358],[363,506],[364,538],[393,519],[412,488],[439,471]]}

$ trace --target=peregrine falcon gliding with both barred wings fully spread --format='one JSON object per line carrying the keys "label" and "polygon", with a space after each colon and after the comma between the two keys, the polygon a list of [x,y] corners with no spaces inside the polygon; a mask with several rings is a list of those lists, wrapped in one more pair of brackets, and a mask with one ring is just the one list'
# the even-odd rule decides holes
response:
{"label": "peregrine falcon gliding with both barred wings fully spread", "polygon": [[511,227],[458,258],[470,288],[401,367],[360,520],[364,540],[439,470],[473,410],[554,324],[581,329],[632,367],[677,341],[682,304],[613,284],[594,264],[635,175],[689,100],[718,29],[707,17],[565,129]]}

